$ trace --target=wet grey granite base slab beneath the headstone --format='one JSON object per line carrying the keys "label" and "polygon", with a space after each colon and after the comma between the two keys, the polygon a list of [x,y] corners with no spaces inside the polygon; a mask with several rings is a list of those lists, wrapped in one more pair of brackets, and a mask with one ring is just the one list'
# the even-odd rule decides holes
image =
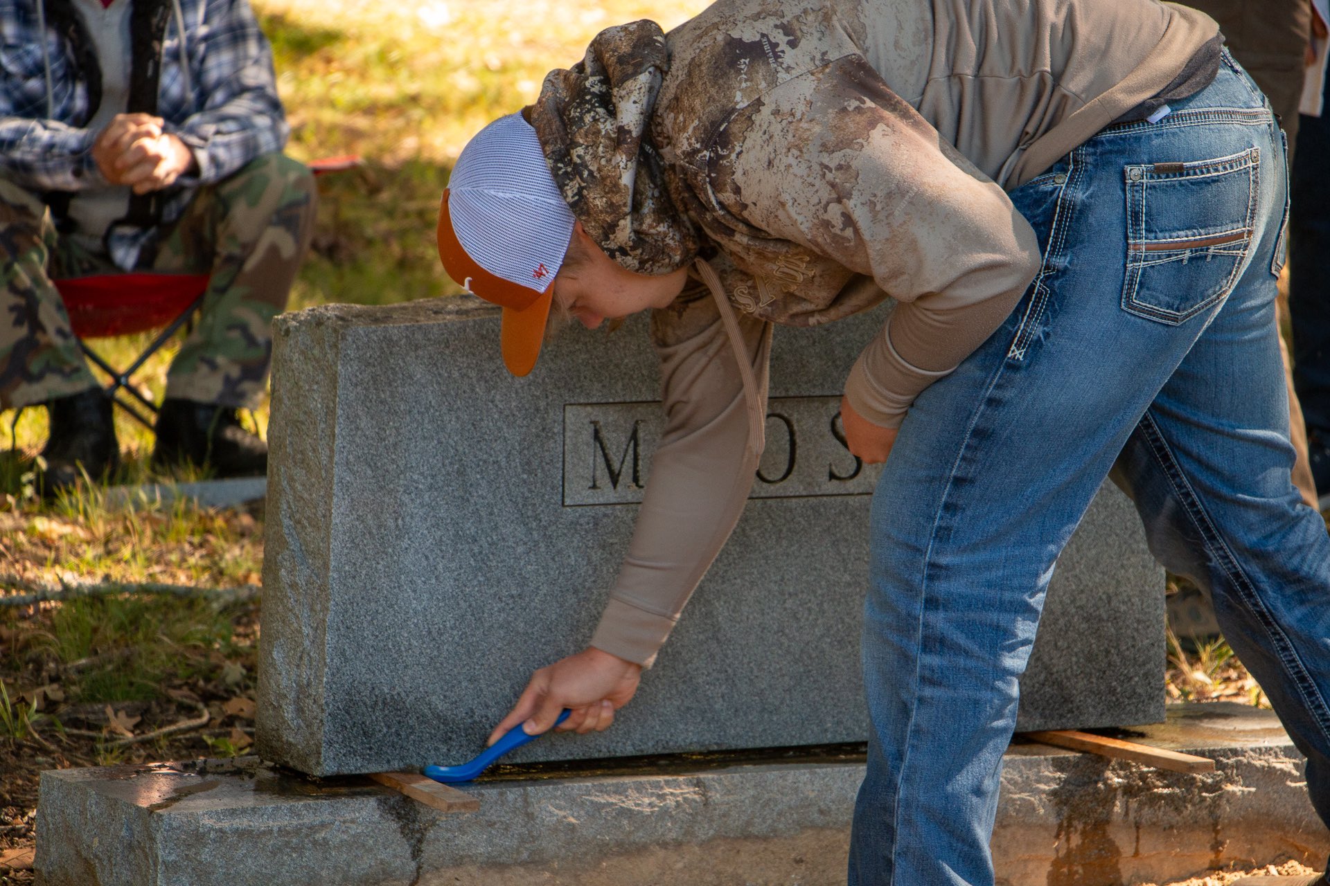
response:
{"label": "wet grey granite base slab beneath the headstone", "polygon": [[[1295,859],[1330,836],[1267,711],[1170,711],[1138,741],[1210,756],[1182,776],[1045,745],[1007,754],[1000,886],[1161,883]],[[693,769],[689,770],[688,765]],[[257,760],[43,773],[45,886],[834,886],[859,760],[481,781],[469,814]]]}

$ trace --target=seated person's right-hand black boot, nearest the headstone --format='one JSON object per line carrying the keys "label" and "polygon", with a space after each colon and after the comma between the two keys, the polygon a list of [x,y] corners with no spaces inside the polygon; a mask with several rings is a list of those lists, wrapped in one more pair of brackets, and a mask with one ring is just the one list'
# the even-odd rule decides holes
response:
{"label": "seated person's right-hand black boot, nearest the headstone", "polygon": [[267,444],[241,428],[239,410],[168,397],[157,413],[153,466],[196,465],[217,477],[267,473]]}

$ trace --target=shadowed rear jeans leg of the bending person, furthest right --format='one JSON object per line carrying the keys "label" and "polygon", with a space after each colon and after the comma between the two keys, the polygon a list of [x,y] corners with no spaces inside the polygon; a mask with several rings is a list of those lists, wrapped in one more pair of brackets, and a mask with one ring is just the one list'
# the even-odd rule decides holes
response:
{"label": "shadowed rear jeans leg of the bending person, furthest right", "polygon": [[[1298,206],[1307,195],[1295,193]],[[1116,478],[1156,558],[1214,600],[1224,636],[1307,757],[1311,802],[1330,822],[1326,529],[1287,494],[1290,453],[1273,433],[1287,414],[1271,396],[1279,361],[1271,311],[1241,287],[1230,302],[1246,308],[1226,307],[1192,348],[1123,449]],[[1285,881],[1311,882],[1250,882]]]}

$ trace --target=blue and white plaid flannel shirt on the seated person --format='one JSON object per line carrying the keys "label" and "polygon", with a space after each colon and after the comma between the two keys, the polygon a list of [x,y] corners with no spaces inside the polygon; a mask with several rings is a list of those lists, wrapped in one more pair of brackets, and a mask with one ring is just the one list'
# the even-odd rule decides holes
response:
{"label": "blue and white plaid flannel shirt on the seated person", "polygon": [[[0,0],[0,177],[32,191],[109,187],[92,158],[97,132],[74,125],[88,116],[88,89],[64,39],[39,29],[37,3]],[[273,50],[247,0],[181,0],[189,86],[181,70],[180,17],[162,46],[157,116],[190,146],[198,173],[177,179],[162,222],[180,218],[198,185],[217,182],[261,154],[282,150],[290,129],[277,96]],[[53,106],[47,106],[43,40],[51,61]],[[109,243],[128,266],[153,231],[117,228]],[[128,264],[126,264],[128,263]]]}

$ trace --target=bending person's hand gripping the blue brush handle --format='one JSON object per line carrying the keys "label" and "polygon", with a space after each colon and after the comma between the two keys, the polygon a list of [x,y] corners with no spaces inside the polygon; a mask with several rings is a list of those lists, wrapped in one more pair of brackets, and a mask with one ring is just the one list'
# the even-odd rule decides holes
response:
{"label": "bending person's hand gripping the blue brush handle", "polygon": [[559,725],[559,732],[585,735],[600,732],[614,721],[620,709],[637,692],[642,665],[595,647],[569,655],[531,675],[508,716],[489,733],[492,745],[519,723],[527,735],[540,735],[555,724],[564,708],[572,713]]}

